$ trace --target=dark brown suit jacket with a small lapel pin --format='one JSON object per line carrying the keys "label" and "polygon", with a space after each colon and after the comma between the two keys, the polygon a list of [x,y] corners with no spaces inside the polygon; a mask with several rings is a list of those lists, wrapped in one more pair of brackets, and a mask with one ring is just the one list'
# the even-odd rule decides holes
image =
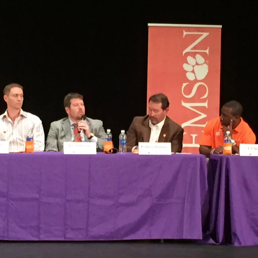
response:
{"label": "dark brown suit jacket with a small lapel pin", "polygon": [[[136,116],[130,125],[127,136],[127,151],[131,152],[138,142],[150,141],[150,118],[149,116]],[[172,152],[181,152],[183,147],[184,129],[166,116],[161,129],[158,142],[171,142]],[[165,135],[165,136],[164,136]]]}

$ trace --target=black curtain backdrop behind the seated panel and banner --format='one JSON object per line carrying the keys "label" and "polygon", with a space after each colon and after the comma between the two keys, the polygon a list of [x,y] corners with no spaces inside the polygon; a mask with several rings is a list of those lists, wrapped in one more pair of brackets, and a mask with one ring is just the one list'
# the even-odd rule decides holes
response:
{"label": "black curtain backdrop behind the seated panel and banner", "polygon": [[[66,116],[65,95],[83,94],[86,115],[101,119],[118,147],[120,130],[146,114],[147,24],[222,25],[220,104],[241,102],[258,135],[257,14],[246,2],[1,3],[0,86],[24,87],[23,110],[41,118],[45,136]],[[5,109],[2,98],[1,114]]]}

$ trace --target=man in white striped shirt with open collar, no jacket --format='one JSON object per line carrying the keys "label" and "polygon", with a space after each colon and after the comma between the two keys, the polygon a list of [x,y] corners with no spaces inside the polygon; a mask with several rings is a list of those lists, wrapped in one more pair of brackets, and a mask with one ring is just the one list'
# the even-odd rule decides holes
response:
{"label": "man in white striped shirt with open collar, no jacket", "polygon": [[9,152],[23,152],[26,138],[29,133],[32,133],[34,151],[44,151],[45,135],[41,120],[21,109],[22,86],[16,83],[5,86],[4,100],[7,109],[0,116],[0,141],[9,141]]}

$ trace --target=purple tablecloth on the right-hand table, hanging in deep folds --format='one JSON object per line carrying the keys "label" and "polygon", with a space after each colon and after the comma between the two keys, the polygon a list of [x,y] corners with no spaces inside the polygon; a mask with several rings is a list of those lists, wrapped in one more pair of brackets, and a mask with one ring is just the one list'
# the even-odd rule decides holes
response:
{"label": "purple tablecloth on the right-hand table, hanging in deep folds", "polygon": [[[258,157],[211,155],[209,243],[258,244]],[[204,237],[204,238],[205,238]]]}

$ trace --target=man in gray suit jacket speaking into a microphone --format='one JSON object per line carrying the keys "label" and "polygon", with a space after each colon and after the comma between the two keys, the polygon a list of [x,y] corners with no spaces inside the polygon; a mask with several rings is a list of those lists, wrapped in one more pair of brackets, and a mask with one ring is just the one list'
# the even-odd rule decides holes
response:
{"label": "man in gray suit jacket speaking into a microphone", "polygon": [[83,96],[69,93],[64,99],[68,117],[52,122],[47,136],[45,151],[63,151],[64,142],[95,142],[98,151],[104,148],[106,133],[100,120],[87,118],[81,120],[85,114]]}

